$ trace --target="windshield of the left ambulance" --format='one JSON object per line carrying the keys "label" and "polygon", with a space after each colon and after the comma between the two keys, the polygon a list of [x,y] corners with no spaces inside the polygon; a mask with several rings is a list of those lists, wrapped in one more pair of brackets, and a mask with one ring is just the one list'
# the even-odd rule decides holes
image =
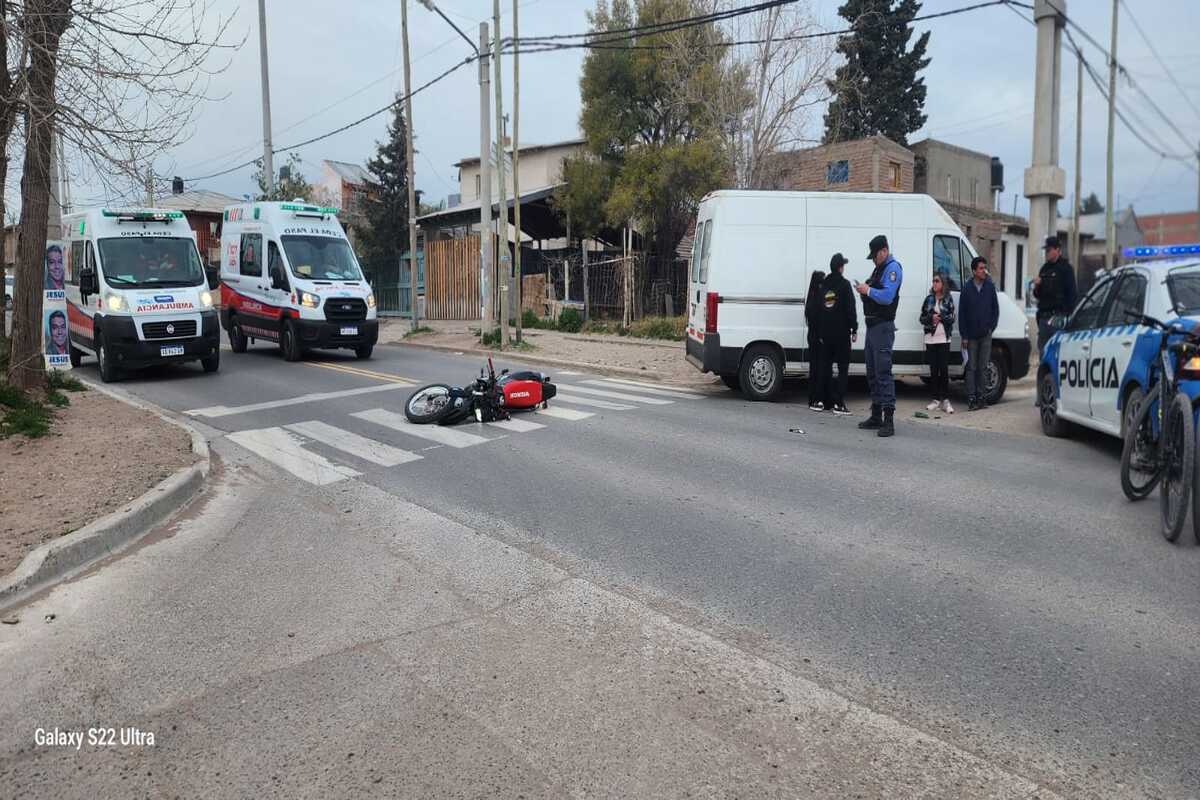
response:
{"label": "windshield of the left ambulance", "polygon": [[110,287],[194,287],[204,283],[196,243],[182,236],[100,240],[100,266]]}

